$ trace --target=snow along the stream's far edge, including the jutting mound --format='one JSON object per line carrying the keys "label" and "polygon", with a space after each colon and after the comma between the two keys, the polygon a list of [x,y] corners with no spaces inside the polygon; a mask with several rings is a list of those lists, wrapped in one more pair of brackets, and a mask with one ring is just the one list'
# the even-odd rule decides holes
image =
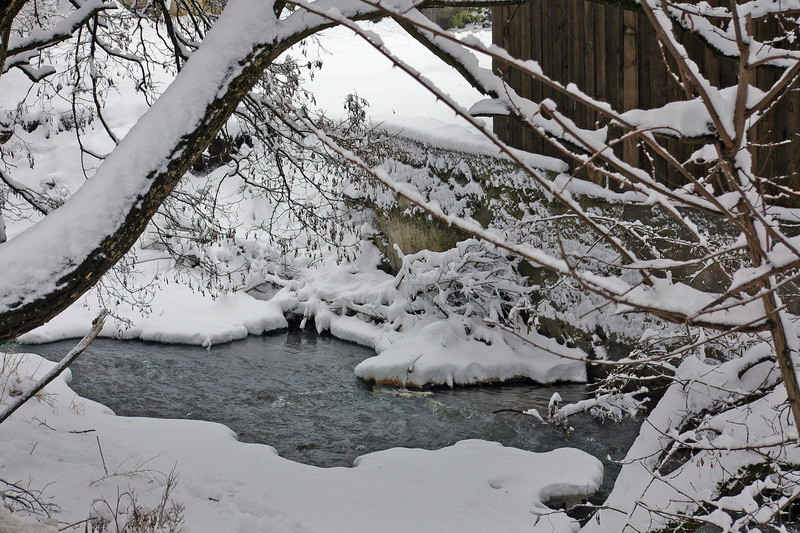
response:
{"label": "snow along the stream's far edge, including the jutting mound", "polygon": [[[480,326],[468,335],[465,329],[475,328],[476,322],[461,316],[410,314],[398,289],[401,281],[377,269],[377,254],[374,247],[365,247],[354,263],[328,261],[308,268],[266,301],[243,292],[214,299],[186,285],[162,285],[150,302],[150,314],[120,306],[116,312],[128,323],[108,321],[102,335],[209,347],[286,328],[285,314],[293,313],[313,319],[319,332],[373,348],[377,355],[356,368],[356,375],[367,381],[406,387],[586,381],[583,351],[535,332],[517,338]],[[19,340],[36,344],[81,337],[99,311],[93,298],[85,298]],[[386,321],[375,323],[371,313]]]}

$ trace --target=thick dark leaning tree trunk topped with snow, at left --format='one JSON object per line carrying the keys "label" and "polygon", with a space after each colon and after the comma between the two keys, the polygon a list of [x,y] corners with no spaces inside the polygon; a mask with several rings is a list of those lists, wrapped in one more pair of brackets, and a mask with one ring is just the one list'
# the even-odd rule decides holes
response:
{"label": "thick dark leaning tree trunk topped with snow, at left", "polygon": [[[52,215],[0,244],[0,343],[66,309],[125,255],[267,66],[302,37],[276,45],[276,40],[269,38],[274,34],[274,14],[264,4],[248,5],[246,0],[230,4],[233,13],[220,18],[218,27],[212,28],[184,71],[104,161],[95,177]],[[220,58],[217,50],[237,53]],[[167,124],[169,120],[182,123]],[[159,152],[141,153],[153,147],[149,138],[161,135],[165,126],[177,133],[159,140],[163,147]],[[115,200],[108,202],[109,211],[100,205],[86,212],[87,205],[95,201],[103,204],[117,183],[121,195],[133,189],[121,206]],[[87,203],[93,195],[95,199]],[[73,240],[70,222],[85,217],[93,218],[89,225],[97,228],[83,237],[86,242],[51,250],[49,257],[36,253],[42,240]],[[109,219],[117,222],[108,224]]]}

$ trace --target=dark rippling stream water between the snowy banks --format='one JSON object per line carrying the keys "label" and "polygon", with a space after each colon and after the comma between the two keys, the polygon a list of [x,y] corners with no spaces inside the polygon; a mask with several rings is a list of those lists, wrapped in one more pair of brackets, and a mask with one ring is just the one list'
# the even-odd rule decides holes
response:
{"label": "dark rippling stream water between the snowy banks", "polygon": [[[57,360],[75,341],[20,346]],[[579,415],[566,435],[531,416],[498,409],[535,407],[543,415],[554,392],[586,397],[583,385],[532,384],[434,389],[424,393],[368,385],[355,366],[368,348],[313,332],[289,330],[214,346],[98,339],[72,365],[72,388],[118,415],[221,422],[244,442],[274,446],[317,466],[350,466],[365,453],[395,446],[435,449],[463,439],[498,441],[543,452],[571,446],[603,459],[603,492],[633,442],[639,422],[617,424]]]}

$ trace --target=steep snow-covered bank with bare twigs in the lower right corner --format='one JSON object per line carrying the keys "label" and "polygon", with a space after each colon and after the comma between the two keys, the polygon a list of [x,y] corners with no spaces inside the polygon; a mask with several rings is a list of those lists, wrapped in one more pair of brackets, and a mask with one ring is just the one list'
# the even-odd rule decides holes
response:
{"label": "steep snow-covered bank with bare twigs in the lower right corner", "polygon": [[[783,504],[770,508],[775,487],[766,487],[785,476],[780,490],[787,498],[797,492],[800,448],[792,443],[796,430],[780,373],[766,359],[771,353],[761,343],[723,363],[687,357],[582,532],[671,530],[681,516],[724,531],[758,531],[754,523],[781,530],[776,509]],[[783,465],[790,465],[787,472],[776,473]],[[760,488],[751,491],[750,484]]]}

